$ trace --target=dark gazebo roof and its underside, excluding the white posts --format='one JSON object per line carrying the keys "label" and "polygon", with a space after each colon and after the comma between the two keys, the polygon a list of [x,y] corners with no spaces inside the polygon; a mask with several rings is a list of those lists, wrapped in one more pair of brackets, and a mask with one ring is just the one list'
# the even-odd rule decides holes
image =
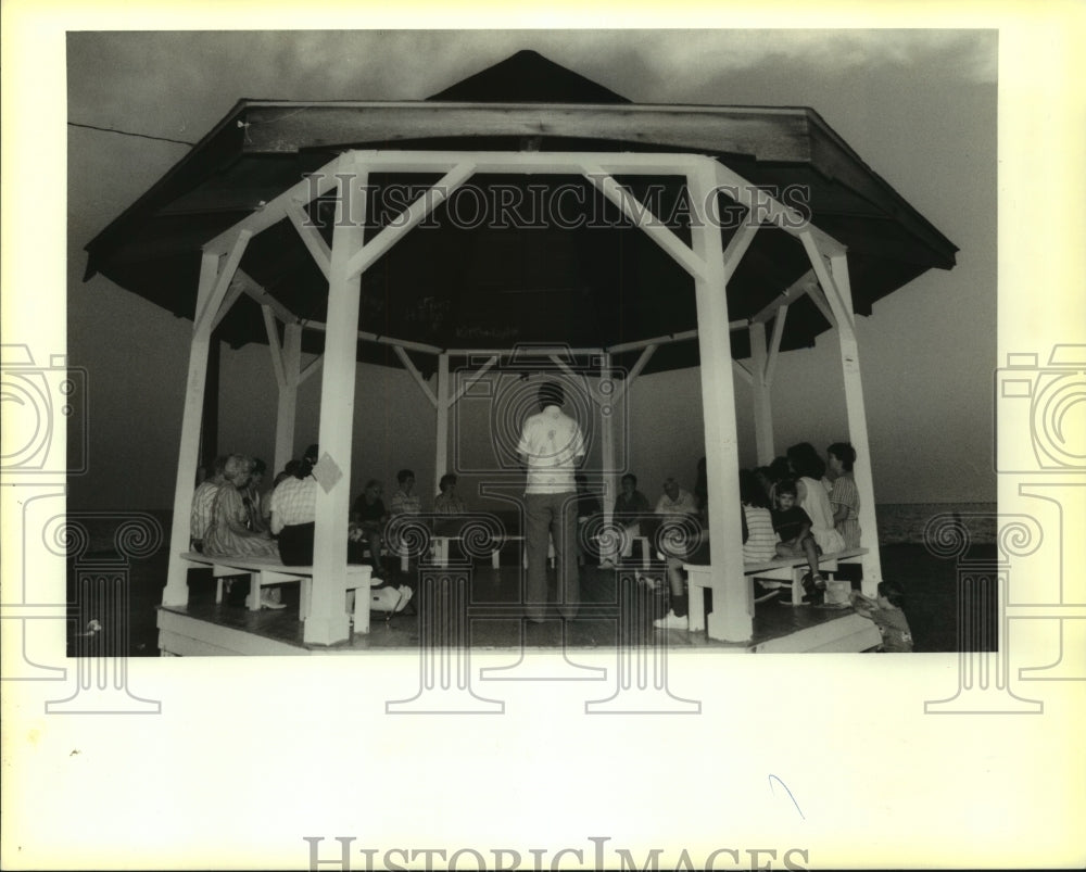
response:
{"label": "dark gazebo roof and its underside, excluding the white posts", "polygon": [[[87,245],[86,278],[102,273],[191,318],[201,245],[351,148],[710,154],[809,212],[815,226],[848,248],[861,315],[927,269],[955,264],[957,248],[810,109],[637,105],[519,52],[422,102],[240,101]],[[679,178],[618,179],[689,239]],[[370,175],[372,232],[394,217],[383,201],[402,206],[406,186],[435,180]],[[471,186],[470,195],[439,206],[363,275],[361,330],[442,349],[584,347],[697,326],[686,273],[585,178],[487,175]],[[312,203],[310,215],[330,242],[325,202]],[[494,226],[503,223],[497,204],[508,226]],[[720,205],[725,215],[734,208],[724,195]],[[724,224],[727,243],[734,227]],[[288,222],[254,237],[241,268],[298,318],[325,320],[327,282]],[[760,312],[809,268],[795,239],[763,226],[729,283],[729,317]],[[810,345],[828,328],[801,298],[790,306],[781,347]],[[240,298],[217,334],[236,346],[266,343],[258,304]],[[733,356],[748,356],[746,331],[732,338]],[[308,351],[323,346],[320,333],[306,331],[305,341]],[[401,365],[389,347],[368,342],[359,342],[358,359]],[[424,371],[433,366],[416,361]],[[697,343],[684,342],[661,347],[645,371],[696,364]]]}

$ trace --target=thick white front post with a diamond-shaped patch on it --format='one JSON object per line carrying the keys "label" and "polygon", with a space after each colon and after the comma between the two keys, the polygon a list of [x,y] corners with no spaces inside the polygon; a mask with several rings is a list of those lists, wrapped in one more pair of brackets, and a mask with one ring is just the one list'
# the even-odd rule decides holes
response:
{"label": "thick white front post with a diamond-shaped patch on it", "polygon": [[[358,296],[362,274],[350,262],[363,247],[366,173],[339,174],[339,208],[332,231],[328,276],[328,318],[320,383],[320,464],[317,485],[313,585],[303,639],[331,645],[350,635],[346,597],[348,510],[351,498],[351,434],[354,426],[355,368],[358,345]],[[331,465],[338,469],[338,477]],[[328,473],[332,472],[334,483]],[[326,486],[330,483],[330,486]],[[363,592],[364,593],[364,592]],[[356,633],[369,632],[369,612]]]}

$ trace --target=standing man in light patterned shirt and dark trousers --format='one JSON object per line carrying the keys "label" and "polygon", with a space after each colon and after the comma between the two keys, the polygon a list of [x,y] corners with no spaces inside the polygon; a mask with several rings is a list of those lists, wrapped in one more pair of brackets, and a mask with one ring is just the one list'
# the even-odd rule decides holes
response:
{"label": "standing man in light patterned shirt and dark trousers", "polygon": [[584,437],[577,421],[561,410],[565,391],[554,381],[539,391],[540,412],[525,421],[517,452],[528,466],[525,517],[528,549],[526,609],[541,623],[546,608],[546,555],[554,540],[558,567],[558,611],[577,615],[581,582],[577,570],[577,482],[573,470],[584,457]]}

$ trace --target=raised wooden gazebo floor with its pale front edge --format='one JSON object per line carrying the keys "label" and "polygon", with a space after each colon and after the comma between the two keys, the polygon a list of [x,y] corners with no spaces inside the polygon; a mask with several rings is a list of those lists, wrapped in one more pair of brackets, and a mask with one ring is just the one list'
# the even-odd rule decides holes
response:
{"label": "raised wooden gazebo floor with its pale front edge", "polygon": [[[420,645],[466,645],[473,649],[545,649],[565,645],[572,649],[614,649],[618,645],[659,644],[664,633],[669,648],[737,653],[864,650],[879,644],[874,625],[851,609],[792,607],[774,599],[757,605],[754,637],[748,643],[710,640],[705,632],[656,630],[652,621],[660,612],[661,601],[637,585],[634,574],[583,567],[582,602],[577,618],[563,622],[552,606],[548,619],[535,624],[522,620],[519,567],[494,570],[476,565],[470,569],[454,568],[451,572],[422,573],[413,570],[395,581],[415,587],[415,614],[386,620],[384,616],[371,612],[368,633],[352,633],[350,640],[333,646],[311,646],[303,642],[296,584],[282,587],[287,608],[249,611],[243,606],[216,604],[210,578],[193,572],[188,607],[159,609],[160,647],[182,655],[303,656],[390,652]],[[451,579],[463,581],[451,582]],[[551,582],[553,597],[553,572]],[[711,603],[707,604],[707,610],[709,606]]]}

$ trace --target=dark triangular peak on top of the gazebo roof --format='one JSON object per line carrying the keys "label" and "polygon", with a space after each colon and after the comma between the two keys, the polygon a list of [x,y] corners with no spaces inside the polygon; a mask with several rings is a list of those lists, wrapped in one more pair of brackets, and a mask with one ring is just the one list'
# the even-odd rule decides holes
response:
{"label": "dark triangular peak on top of the gazebo roof", "polygon": [[531,49],[521,49],[427,99],[465,103],[630,102]]}

